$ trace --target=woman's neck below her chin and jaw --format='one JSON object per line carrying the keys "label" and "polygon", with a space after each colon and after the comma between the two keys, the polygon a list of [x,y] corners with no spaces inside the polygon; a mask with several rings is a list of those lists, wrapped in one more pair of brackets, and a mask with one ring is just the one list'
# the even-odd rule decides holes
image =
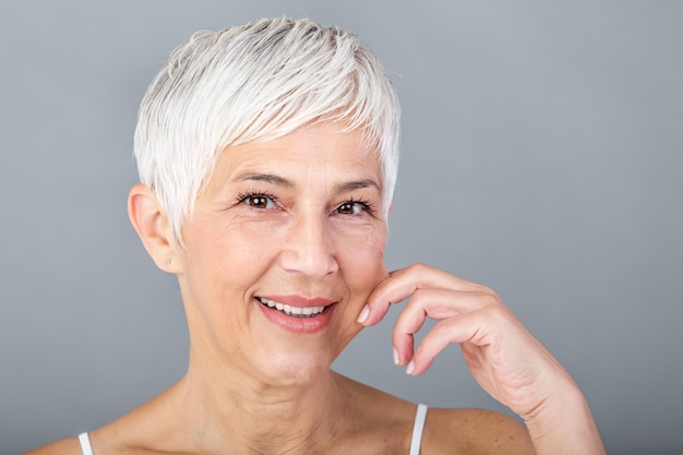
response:
{"label": "woman's neck below her chin and jaw", "polygon": [[319,452],[343,430],[343,384],[328,369],[305,383],[277,384],[191,359],[173,388],[185,435],[202,452],[303,454]]}

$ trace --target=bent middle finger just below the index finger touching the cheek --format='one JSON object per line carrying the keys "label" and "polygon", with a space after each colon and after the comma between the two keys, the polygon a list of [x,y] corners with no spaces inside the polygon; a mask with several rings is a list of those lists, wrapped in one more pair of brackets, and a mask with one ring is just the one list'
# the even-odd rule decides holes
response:
{"label": "bent middle finger just below the index finger touching the cheek", "polygon": [[405,364],[412,358],[414,335],[422,328],[427,318],[443,320],[496,303],[499,301],[493,296],[481,291],[416,290],[394,325],[397,364]]}

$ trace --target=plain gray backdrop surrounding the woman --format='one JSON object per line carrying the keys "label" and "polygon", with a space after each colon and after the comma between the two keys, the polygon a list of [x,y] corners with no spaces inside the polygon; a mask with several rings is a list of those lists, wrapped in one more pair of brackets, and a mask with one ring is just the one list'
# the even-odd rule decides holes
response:
{"label": "plain gray backdrop surrounding the woman", "polygon": [[[125,214],[137,103],[197,28],[290,14],[358,33],[404,107],[392,268],[499,291],[572,372],[612,454],[683,453],[683,2],[0,4],[0,453],[104,424],[184,371],[175,279]],[[501,409],[391,321],[337,368],[431,406]]]}

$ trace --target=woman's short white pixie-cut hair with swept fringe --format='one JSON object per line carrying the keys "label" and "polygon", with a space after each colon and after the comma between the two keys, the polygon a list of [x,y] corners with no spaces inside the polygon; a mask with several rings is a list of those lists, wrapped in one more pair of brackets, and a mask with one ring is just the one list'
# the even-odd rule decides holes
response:
{"label": "woman's short white pixie-cut hair with swept fringe", "polygon": [[143,97],[134,140],[140,179],[182,247],[182,224],[226,147],[334,121],[362,131],[376,154],[386,216],[398,171],[398,99],[356,35],[289,17],[200,31]]}

